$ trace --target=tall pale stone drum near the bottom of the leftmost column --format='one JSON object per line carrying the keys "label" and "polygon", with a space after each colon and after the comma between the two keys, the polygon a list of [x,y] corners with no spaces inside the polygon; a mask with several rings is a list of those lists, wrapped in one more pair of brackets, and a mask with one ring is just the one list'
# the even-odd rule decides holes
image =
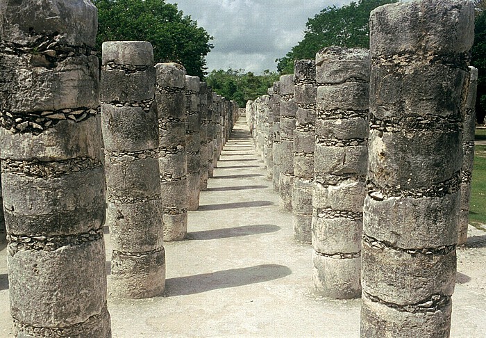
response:
{"label": "tall pale stone drum near the bottom of the leftmost column", "polygon": [[19,321],[62,328],[83,323],[106,306],[103,239],[53,251],[19,250],[7,260],[10,314]]}

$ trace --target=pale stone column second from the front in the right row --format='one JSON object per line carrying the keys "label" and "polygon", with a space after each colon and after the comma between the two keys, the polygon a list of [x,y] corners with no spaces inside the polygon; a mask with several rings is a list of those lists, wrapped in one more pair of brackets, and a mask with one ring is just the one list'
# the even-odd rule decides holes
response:
{"label": "pale stone column second from the front in the right row", "polygon": [[367,49],[329,47],[316,56],[312,284],[328,298],[361,293],[369,67]]}

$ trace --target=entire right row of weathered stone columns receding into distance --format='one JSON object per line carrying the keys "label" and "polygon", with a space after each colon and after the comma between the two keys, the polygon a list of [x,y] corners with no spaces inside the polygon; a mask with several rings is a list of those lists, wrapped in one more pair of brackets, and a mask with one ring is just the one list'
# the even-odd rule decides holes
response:
{"label": "entire right row of weathered stone columns receding into distance", "polygon": [[[280,205],[312,243],[314,293],[362,295],[362,337],[446,337],[471,193],[474,6],[382,6],[370,27],[370,51],[326,48],[280,77]],[[246,105],[257,153],[274,88]]]}

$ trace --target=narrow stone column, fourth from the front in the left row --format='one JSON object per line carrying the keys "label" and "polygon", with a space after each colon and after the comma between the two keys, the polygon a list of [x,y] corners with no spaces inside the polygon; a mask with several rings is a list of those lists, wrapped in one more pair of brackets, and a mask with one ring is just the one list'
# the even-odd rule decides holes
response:
{"label": "narrow stone column, fourth from the front in the left row", "polygon": [[201,135],[199,128],[199,77],[185,76],[185,151],[187,152],[187,210],[199,208],[201,186]]}

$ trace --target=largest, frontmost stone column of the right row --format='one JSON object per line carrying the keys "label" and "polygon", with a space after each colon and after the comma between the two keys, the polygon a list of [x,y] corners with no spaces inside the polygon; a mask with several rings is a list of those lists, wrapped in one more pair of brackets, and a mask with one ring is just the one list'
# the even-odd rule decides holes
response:
{"label": "largest, frontmost stone column of the right row", "polygon": [[361,337],[449,337],[474,5],[394,3],[370,29]]}

